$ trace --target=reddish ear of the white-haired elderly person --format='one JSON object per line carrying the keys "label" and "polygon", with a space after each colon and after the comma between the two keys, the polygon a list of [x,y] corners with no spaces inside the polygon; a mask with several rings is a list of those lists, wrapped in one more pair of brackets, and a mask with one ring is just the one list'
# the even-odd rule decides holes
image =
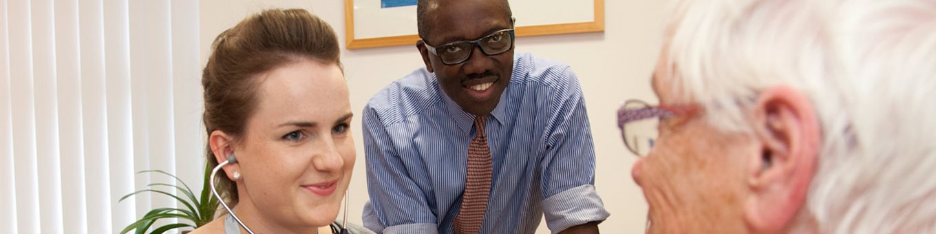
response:
{"label": "reddish ear of the white-haired elderly person", "polygon": [[819,122],[809,98],[787,86],[763,90],[751,110],[760,151],[748,158],[744,218],[754,232],[787,231],[815,172]]}

